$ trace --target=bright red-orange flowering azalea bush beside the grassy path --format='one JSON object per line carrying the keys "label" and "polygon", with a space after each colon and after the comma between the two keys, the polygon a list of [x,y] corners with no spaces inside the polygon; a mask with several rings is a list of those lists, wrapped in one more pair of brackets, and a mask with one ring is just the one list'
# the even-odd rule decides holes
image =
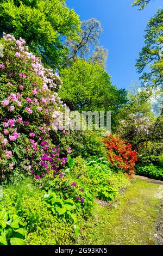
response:
{"label": "bright red-orange flowering azalea bush beside the grassy path", "polygon": [[137,153],[132,151],[131,144],[114,135],[108,135],[105,138],[105,145],[108,149],[107,157],[111,162],[111,166],[132,174],[137,161]]}

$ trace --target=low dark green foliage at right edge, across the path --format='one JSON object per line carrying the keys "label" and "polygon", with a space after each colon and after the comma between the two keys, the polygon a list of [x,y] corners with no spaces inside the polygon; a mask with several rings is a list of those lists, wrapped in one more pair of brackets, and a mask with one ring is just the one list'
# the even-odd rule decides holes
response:
{"label": "low dark green foliage at right edge, across the path", "polygon": [[145,175],[152,179],[163,180],[163,168],[150,164],[148,166],[137,166],[136,173],[139,175]]}

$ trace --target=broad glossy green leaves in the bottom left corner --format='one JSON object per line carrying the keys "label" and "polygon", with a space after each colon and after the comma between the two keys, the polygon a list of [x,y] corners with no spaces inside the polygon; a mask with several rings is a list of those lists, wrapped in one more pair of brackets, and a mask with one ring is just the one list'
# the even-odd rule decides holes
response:
{"label": "broad glossy green leaves in the bottom left corner", "polygon": [[20,218],[3,208],[0,211],[0,245],[24,245],[26,227]]}

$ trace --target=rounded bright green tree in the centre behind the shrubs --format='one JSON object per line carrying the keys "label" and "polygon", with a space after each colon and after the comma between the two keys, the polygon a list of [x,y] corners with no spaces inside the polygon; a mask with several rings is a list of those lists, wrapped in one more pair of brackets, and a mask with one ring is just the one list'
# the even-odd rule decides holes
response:
{"label": "rounded bright green tree in the centre behind the shrubs", "polygon": [[118,109],[127,102],[126,90],[112,86],[110,76],[98,64],[77,59],[61,71],[59,96],[72,111],[111,111],[112,126]]}

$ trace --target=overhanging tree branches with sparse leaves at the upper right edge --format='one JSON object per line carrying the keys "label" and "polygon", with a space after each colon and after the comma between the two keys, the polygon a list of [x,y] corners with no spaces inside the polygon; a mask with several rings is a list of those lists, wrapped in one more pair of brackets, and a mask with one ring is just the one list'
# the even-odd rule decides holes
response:
{"label": "overhanging tree branches with sparse leaves at the upper right edge", "polygon": [[145,34],[145,46],[137,59],[136,67],[140,77],[148,87],[163,84],[163,10],[159,9],[148,22]]}

